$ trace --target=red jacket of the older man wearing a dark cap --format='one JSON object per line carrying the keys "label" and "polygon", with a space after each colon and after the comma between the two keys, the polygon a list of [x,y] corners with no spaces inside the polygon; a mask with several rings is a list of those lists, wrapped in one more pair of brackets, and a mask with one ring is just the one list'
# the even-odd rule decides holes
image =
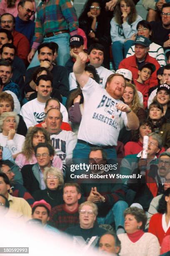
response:
{"label": "red jacket of the older man wearing a dark cap", "polygon": [[[158,61],[155,58],[151,57],[149,54],[146,55],[145,62],[150,62],[150,63],[154,64],[156,67],[156,70],[150,76],[150,79],[145,81],[146,85],[149,85],[150,87],[154,87],[154,86],[158,85],[156,72],[160,68],[160,64],[158,63]],[[135,54],[133,56],[123,59],[120,62],[118,69],[128,69],[132,72],[133,79],[138,79],[138,66],[136,63]]]}

